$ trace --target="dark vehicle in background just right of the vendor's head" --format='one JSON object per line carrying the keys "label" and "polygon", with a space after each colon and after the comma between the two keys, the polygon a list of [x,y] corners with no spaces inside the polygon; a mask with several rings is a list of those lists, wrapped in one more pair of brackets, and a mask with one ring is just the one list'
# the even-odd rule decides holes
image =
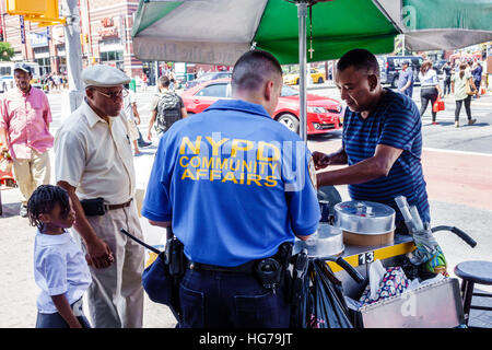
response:
{"label": "dark vehicle in background just right of the vendor's head", "polygon": [[411,67],[413,70],[413,81],[415,84],[420,83],[419,70],[423,60],[420,56],[378,56],[382,84],[390,84],[391,88],[397,88],[403,62],[411,63],[409,68]]}

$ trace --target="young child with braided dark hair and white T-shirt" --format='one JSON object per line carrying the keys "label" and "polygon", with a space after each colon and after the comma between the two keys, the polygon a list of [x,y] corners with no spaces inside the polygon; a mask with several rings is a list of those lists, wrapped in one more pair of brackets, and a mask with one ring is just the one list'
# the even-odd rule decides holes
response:
{"label": "young child with braided dark hair and white T-shirt", "polygon": [[36,328],[91,328],[82,311],[82,295],[92,279],[83,253],[67,231],[75,221],[67,191],[39,186],[27,202],[27,214],[38,229],[34,279],[42,292]]}

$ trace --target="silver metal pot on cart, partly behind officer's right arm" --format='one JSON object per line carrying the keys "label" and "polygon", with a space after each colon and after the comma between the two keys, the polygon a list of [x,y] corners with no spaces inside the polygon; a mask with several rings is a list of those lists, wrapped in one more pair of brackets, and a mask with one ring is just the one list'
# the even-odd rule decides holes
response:
{"label": "silver metal pot on cart, partly behind officer's right arm", "polygon": [[340,255],[343,253],[342,231],[328,223],[320,222],[318,231],[312,234],[307,241],[295,240],[293,254],[307,249],[309,257],[324,257]]}

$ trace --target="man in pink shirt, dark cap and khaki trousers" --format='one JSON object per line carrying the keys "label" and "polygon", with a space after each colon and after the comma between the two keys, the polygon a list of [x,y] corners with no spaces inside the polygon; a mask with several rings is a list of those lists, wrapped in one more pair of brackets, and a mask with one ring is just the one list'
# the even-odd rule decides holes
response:
{"label": "man in pink shirt, dark cap and khaki trousers", "polygon": [[14,68],[17,89],[10,90],[0,105],[0,142],[2,152],[10,151],[15,180],[21,190],[21,217],[27,215],[27,200],[39,185],[49,184],[48,149],[51,112],[45,93],[31,85],[31,67]]}

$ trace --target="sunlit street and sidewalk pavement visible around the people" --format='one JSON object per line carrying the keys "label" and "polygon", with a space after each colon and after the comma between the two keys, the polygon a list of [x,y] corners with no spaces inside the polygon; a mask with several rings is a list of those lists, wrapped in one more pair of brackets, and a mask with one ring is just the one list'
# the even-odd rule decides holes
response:
{"label": "sunlit street and sidewalk pavement visible around the people", "polygon": [[[316,89],[314,89],[316,88]],[[150,101],[154,86],[137,93],[138,109],[142,119],[139,126],[147,136],[150,118]],[[315,93],[340,100],[337,89],[330,83],[321,88],[312,86]],[[48,100],[54,121],[52,135],[60,127],[62,94],[49,93]],[[420,107],[420,89],[413,91],[413,100]],[[454,126],[455,102],[445,98],[446,109],[437,114],[440,125],[431,124],[430,107],[422,119],[424,178],[431,205],[432,225],[457,226],[471,235],[478,245],[469,247],[450,232],[438,232],[436,238],[442,246],[448,272],[454,276],[454,267],[465,260],[492,260],[492,94],[473,100],[471,112],[477,124],[466,125],[466,114],[461,110],[460,128]],[[311,151],[332,152],[341,145],[341,131],[308,138]],[[141,149],[143,155],[136,158],[138,188],[144,189],[151,171],[157,139]],[[51,152],[51,163],[54,153]],[[51,177],[54,182],[55,177]],[[350,200],[347,186],[337,186],[343,200]],[[17,189],[2,190],[3,217],[0,217],[0,264],[2,288],[0,289],[0,327],[34,327],[36,319],[36,298],[38,288],[33,277],[33,243],[35,229],[28,226],[27,219],[19,217]],[[162,230],[149,225],[141,219],[145,241],[159,244]],[[492,292],[482,285],[480,290]],[[480,299],[478,299],[480,300]],[[472,311],[470,324],[492,327],[492,316],[482,311]],[[166,306],[145,299],[144,327],[174,327],[175,319]]]}

